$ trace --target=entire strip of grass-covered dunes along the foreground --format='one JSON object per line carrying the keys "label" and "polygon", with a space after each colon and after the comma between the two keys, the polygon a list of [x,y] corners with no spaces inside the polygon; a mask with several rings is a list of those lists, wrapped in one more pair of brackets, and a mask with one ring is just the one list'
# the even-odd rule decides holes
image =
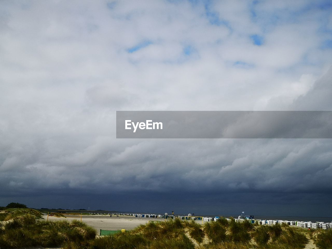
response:
{"label": "entire strip of grass-covered dunes along the foreground", "polygon": [[64,249],[300,249],[313,241],[316,248],[332,248],[332,231],[253,225],[235,220],[196,222],[180,219],[150,222],[131,231],[99,237],[84,222],[45,221],[34,209],[0,212],[0,248],[62,247]]}

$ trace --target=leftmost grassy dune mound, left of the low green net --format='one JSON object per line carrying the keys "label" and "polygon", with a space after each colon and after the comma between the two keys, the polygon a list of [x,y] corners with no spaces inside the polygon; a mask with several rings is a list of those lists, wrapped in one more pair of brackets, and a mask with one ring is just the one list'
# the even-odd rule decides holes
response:
{"label": "leftmost grassy dune mound, left of the low green net", "polygon": [[[37,213],[38,214],[38,213]],[[26,213],[9,213],[7,222],[0,227],[0,248],[23,248],[32,246],[70,248],[86,247],[96,237],[96,230],[78,220],[45,221]]]}

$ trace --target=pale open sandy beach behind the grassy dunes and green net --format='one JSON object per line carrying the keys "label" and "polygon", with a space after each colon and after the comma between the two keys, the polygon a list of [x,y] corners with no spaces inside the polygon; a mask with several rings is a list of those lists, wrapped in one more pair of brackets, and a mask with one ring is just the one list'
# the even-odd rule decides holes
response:
{"label": "pale open sandy beach behind the grassy dunes and green net", "polygon": [[[44,219],[47,219],[47,215],[43,215]],[[49,216],[48,220],[67,220],[71,221],[73,219],[81,220],[80,215],[66,215],[65,217],[54,217]],[[133,216],[112,216],[109,215],[82,215],[82,222],[87,223],[89,226],[94,227],[98,234],[100,229],[103,230],[131,230],[140,224],[145,224],[149,220],[159,220],[164,221],[163,218],[142,218]]]}

